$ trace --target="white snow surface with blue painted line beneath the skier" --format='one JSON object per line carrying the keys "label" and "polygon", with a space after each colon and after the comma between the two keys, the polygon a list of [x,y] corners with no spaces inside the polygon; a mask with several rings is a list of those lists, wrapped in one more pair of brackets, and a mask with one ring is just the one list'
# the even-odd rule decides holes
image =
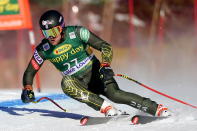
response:
{"label": "white snow surface with blue painted line beneath the skier", "polygon": [[[63,112],[50,101],[23,104],[20,91],[0,91],[0,131],[197,131],[197,110],[182,104],[169,102],[175,115],[146,125],[130,125],[129,121],[109,122],[101,125],[81,126],[83,115],[100,116],[85,104],[64,94],[36,93],[36,98],[47,96],[67,109]],[[117,105],[129,113],[137,112],[129,106]]]}

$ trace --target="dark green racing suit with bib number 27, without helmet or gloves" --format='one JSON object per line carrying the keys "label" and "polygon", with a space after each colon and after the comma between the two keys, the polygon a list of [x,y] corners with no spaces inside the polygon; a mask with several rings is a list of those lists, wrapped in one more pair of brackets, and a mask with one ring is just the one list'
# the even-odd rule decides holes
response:
{"label": "dark green racing suit with bib number 27, without helmet or gloves", "polygon": [[49,60],[61,72],[62,90],[71,98],[100,110],[104,99],[99,95],[104,95],[115,103],[127,104],[154,115],[158,106],[156,102],[120,90],[114,78],[105,83],[100,79],[100,61],[90,47],[101,51],[101,62],[111,63],[111,45],[85,27],[66,26],[57,45],[43,39],[36,47],[24,73],[23,85],[32,85],[36,72],[45,60]]}

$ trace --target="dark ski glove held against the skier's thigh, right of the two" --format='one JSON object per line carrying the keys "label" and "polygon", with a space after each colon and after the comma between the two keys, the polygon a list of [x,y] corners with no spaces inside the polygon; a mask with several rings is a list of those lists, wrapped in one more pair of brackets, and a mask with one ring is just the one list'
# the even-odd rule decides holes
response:
{"label": "dark ski glove held against the skier's thigh, right of the two", "polygon": [[108,81],[114,76],[114,72],[108,63],[102,63],[99,69],[102,81]]}

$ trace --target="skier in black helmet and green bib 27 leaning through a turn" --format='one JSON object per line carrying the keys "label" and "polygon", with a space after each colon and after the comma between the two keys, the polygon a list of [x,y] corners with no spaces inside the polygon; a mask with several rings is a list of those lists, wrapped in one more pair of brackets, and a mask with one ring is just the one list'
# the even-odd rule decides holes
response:
{"label": "skier in black helmet and green bib 27 leaning through a turn", "polygon": [[[44,39],[36,47],[23,75],[21,99],[24,103],[35,100],[33,78],[45,60],[49,60],[62,74],[61,87],[71,98],[86,103],[106,116],[122,112],[101,98],[127,104],[154,116],[169,115],[168,108],[134,93],[120,90],[110,67],[112,47],[83,26],[65,26],[63,16],[49,10],[40,17],[40,29]],[[101,52],[100,62],[90,47]]]}

